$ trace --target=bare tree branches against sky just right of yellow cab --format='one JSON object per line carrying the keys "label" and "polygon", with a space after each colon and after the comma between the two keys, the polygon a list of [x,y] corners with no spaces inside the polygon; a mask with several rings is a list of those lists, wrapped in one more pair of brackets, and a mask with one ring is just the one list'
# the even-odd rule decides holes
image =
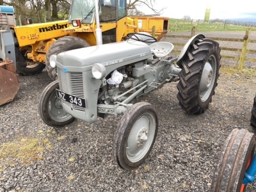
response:
{"label": "bare tree branches against sky just right of yellow cab", "polygon": [[129,15],[132,15],[131,13],[135,13],[136,15],[145,15],[141,10],[143,8],[148,8],[149,10],[152,10],[152,12],[161,15],[166,7],[161,8],[161,10],[157,10],[156,3],[157,0],[128,0],[127,11]]}

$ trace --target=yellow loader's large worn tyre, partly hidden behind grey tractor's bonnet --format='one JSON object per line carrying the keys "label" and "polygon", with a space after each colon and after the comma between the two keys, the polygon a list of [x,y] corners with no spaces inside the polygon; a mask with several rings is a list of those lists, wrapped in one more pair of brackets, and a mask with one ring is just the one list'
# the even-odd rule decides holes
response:
{"label": "yellow loader's large worn tyre, partly hidden behind grey tractor's bonnet", "polygon": [[49,51],[46,53],[46,60],[45,60],[45,68],[51,77],[52,80],[57,80],[58,76],[56,74],[56,68],[52,68],[49,62],[50,56],[52,54],[59,54],[63,51],[70,51],[73,49],[79,49],[83,47],[89,47],[90,45],[83,39],[77,36],[63,36],[58,38],[56,42],[54,42]]}

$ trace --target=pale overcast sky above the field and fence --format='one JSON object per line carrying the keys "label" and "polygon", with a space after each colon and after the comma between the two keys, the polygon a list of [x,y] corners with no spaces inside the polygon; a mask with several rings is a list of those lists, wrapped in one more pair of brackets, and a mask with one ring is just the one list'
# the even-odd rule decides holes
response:
{"label": "pale overcast sky above the field and fence", "polygon": [[[166,7],[161,16],[175,19],[182,19],[185,15],[191,19],[204,19],[207,4],[211,7],[210,19],[241,19],[245,17],[256,19],[255,2],[252,0],[156,0],[156,2],[157,9]],[[153,13],[150,10],[143,12]]]}

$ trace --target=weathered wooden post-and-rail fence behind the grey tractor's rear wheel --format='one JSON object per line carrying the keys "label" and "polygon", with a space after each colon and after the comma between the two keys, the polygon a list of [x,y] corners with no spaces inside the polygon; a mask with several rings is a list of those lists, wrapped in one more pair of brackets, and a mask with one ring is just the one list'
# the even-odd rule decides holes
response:
{"label": "weathered wooden post-and-rail fence behind the grey tractor's rear wheel", "polygon": [[[227,58],[230,60],[236,60],[237,68],[241,69],[241,68],[243,68],[244,61],[251,61],[253,63],[256,63],[256,58],[247,56],[247,54],[256,54],[256,38],[250,39],[250,32],[251,32],[251,28],[246,29],[245,35],[241,36],[241,38],[225,38],[225,37],[211,37],[211,36],[209,38],[211,38],[212,40],[216,40],[220,44],[221,44],[221,42],[226,42],[224,47],[221,46],[221,51],[222,51],[221,57]],[[218,33],[218,32],[216,32],[216,33]],[[175,33],[175,35],[172,35],[172,32],[171,32],[171,33],[168,33],[168,35],[164,35],[163,38],[172,38],[172,40],[175,40],[175,38],[188,40],[189,38],[191,38],[194,35],[195,35],[195,27],[193,27],[191,29],[190,35],[188,35],[188,34],[184,35],[184,33],[180,33],[180,35],[179,35],[179,33]],[[172,42],[172,40],[171,40],[171,42]],[[228,42],[230,42],[230,44],[227,44]],[[233,42],[240,42],[241,47],[239,47],[239,48],[232,47]],[[183,47],[186,43],[184,43],[184,42],[180,43],[180,42],[175,41],[175,42],[172,42],[172,44],[175,45],[175,47],[176,46]],[[248,44],[255,44],[255,49],[248,49]],[[234,52],[236,54],[227,54],[225,51],[226,52],[227,51]],[[180,50],[174,48],[173,52],[180,53]]]}

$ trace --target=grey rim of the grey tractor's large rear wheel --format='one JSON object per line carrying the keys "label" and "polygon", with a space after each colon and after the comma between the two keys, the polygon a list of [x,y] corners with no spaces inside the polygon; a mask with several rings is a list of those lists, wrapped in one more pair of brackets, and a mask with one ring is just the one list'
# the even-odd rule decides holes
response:
{"label": "grey rim of the grey tractor's large rear wheel", "polygon": [[211,95],[215,83],[217,72],[217,61],[214,55],[211,55],[204,65],[203,74],[200,80],[199,92],[202,102]]}

